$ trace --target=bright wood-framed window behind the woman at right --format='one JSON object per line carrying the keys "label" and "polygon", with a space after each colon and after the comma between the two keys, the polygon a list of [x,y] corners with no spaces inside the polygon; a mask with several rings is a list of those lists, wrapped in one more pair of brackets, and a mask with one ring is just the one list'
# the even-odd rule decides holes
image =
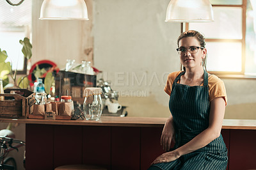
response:
{"label": "bright wood-framed window behind the woman at right", "polygon": [[256,78],[256,1],[211,0],[214,22],[186,24],[205,36],[207,71]]}

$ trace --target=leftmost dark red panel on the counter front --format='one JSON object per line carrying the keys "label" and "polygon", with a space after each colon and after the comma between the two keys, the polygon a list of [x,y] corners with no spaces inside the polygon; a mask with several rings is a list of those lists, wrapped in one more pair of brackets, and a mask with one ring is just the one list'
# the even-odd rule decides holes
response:
{"label": "leftmost dark red panel on the counter front", "polygon": [[26,124],[26,169],[53,169],[52,125]]}

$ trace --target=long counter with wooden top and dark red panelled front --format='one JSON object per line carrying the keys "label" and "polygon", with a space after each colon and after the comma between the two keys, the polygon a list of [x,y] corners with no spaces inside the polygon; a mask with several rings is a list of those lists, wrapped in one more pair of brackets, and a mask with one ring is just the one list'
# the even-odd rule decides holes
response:
{"label": "long counter with wooden top and dark red panelled front", "polygon": [[[102,117],[100,121],[0,119],[26,123],[26,169],[97,164],[107,169],[147,169],[163,153],[167,118]],[[256,169],[256,120],[224,120],[221,130],[230,170]]]}

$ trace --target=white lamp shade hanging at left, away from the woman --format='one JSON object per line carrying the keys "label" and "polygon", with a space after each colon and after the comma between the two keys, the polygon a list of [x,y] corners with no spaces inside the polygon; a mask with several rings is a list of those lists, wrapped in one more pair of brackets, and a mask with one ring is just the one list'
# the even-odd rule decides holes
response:
{"label": "white lamp shade hanging at left, away from the woman", "polygon": [[89,20],[84,0],[44,0],[41,20]]}

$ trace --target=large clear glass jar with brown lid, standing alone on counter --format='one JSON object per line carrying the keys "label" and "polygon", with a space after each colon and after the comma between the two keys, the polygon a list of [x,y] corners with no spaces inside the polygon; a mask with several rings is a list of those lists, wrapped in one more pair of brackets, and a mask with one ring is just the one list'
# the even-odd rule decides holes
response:
{"label": "large clear glass jar with brown lid, standing alone on counter", "polygon": [[102,91],[101,88],[85,88],[83,97],[84,98],[84,116],[86,120],[100,120],[100,116],[102,114],[102,100],[101,95]]}

